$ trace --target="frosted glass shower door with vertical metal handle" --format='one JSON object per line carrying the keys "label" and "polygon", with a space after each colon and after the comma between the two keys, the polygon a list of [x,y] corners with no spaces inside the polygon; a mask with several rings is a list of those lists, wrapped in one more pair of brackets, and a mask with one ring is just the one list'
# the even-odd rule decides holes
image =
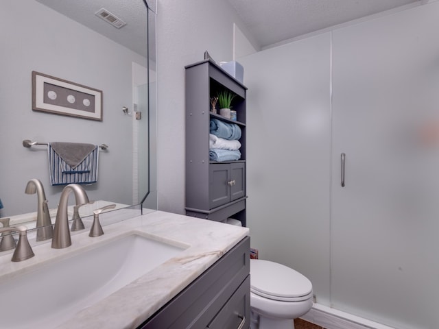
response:
{"label": "frosted glass shower door with vertical metal handle", "polygon": [[331,306],[401,329],[439,328],[438,15],[333,32]]}

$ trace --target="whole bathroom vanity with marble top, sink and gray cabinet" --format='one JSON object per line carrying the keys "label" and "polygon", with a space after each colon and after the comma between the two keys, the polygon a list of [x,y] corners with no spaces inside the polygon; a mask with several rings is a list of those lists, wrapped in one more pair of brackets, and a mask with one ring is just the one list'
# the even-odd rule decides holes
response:
{"label": "whole bathroom vanity with marble top, sink and gray cabinet", "polygon": [[[120,209],[114,216],[126,217],[127,213],[122,212],[130,211],[134,210]],[[104,225],[105,221],[111,224]],[[14,299],[14,291],[9,292],[12,305],[0,310],[1,326],[249,327],[248,228],[154,211],[120,222],[104,218],[104,235],[91,238],[87,229],[91,223],[84,223],[86,232],[72,234],[70,247],[52,249],[50,243],[36,243],[32,245],[35,256],[19,263],[12,263],[8,252],[0,254],[2,293],[8,293],[8,287],[23,287],[28,283],[32,287],[31,293],[23,291],[27,297],[21,300]],[[143,247],[148,243],[152,247]],[[130,245],[130,252],[121,252],[124,245]],[[157,260],[161,248],[169,249],[171,254]],[[151,263],[152,268],[139,271],[139,263]],[[93,264],[96,264],[94,268]],[[123,283],[126,279],[117,278],[119,274],[107,279],[106,273],[113,267],[115,273],[131,267],[139,273],[124,274],[128,276],[126,283]],[[101,268],[102,273],[97,273]],[[102,284],[102,280],[108,282]],[[54,283],[59,288],[52,288]],[[95,289],[95,284],[102,287]],[[106,291],[112,284],[121,287]],[[45,293],[35,293],[34,289]],[[78,291],[84,291],[84,296]],[[32,301],[34,295],[38,295],[38,302]]]}

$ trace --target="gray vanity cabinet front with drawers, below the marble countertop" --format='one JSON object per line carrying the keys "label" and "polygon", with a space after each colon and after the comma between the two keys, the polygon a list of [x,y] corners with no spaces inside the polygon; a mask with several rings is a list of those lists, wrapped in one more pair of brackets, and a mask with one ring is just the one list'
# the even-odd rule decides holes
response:
{"label": "gray vanity cabinet front with drawers, below the marble countertop", "polygon": [[246,237],[138,329],[250,328]]}

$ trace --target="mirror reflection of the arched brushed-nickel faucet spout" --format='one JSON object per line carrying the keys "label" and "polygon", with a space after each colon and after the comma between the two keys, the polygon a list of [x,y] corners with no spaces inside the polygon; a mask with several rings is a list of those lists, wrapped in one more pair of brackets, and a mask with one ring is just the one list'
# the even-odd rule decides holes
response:
{"label": "mirror reflection of the arched brushed-nickel faucet spout", "polygon": [[29,180],[25,189],[26,194],[35,194],[37,196],[38,206],[36,213],[36,241],[50,239],[54,228],[50,220],[49,207],[44,193],[43,184],[40,180]]}

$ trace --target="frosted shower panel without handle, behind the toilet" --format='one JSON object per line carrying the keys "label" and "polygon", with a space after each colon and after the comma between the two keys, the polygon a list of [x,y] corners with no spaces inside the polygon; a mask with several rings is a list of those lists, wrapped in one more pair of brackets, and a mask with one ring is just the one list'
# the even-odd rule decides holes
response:
{"label": "frosted shower panel without handle, behind the toilet", "polygon": [[239,59],[248,87],[247,225],[259,256],[329,301],[330,34]]}

